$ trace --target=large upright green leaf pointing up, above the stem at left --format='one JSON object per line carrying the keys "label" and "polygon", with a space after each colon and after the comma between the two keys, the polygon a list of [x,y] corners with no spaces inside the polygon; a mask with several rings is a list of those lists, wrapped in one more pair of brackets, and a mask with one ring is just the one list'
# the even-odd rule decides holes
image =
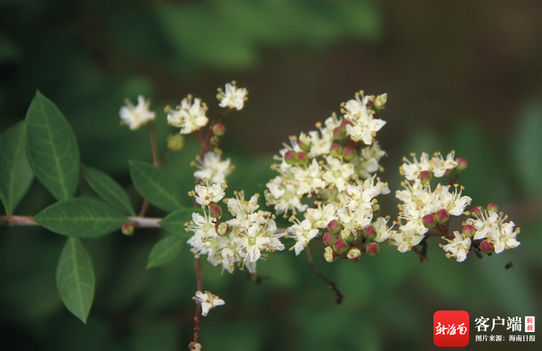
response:
{"label": "large upright green leaf pointing up, above the stem at left", "polygon": [[56,199],[73,197],[79,179],[76,135],[56,105],[39,91],[26,113],[26,140],[37,179]]}

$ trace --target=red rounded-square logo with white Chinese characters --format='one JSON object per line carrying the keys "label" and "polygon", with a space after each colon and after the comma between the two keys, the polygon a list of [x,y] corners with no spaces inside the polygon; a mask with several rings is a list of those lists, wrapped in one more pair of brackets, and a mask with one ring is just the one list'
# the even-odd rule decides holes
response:
{"label": "red rounded-square logo with white Chinese characters", "polygon": [[435,312],[433,343],[437,346],[469,345],[469,314],[466,311]]}

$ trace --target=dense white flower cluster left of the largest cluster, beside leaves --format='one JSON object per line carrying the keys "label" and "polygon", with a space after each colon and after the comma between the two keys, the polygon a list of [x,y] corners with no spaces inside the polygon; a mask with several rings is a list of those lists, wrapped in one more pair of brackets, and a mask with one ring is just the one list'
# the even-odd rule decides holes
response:
{"label": "dense white flower cluster left of the largest cluster, beside leaves", "polygon": [[224,198],[224,185],[196,185],[191,195],[201,205],[203,216],[192,214],[192,221],[186,230],[193,232],[188,240],[194,254],[207,255],[214,266],[222,266],[230,273],[235,266],[255,273],[256,262],[263,258],[262,251],[284,250],[280,242],[284,233],[277,233],[277,225],[270,212],[258,210],[258,194],[248,201],[243,192],[236,197],[225,199],[227,209],[233,218],[221,221],[222,207],[218,204]]}

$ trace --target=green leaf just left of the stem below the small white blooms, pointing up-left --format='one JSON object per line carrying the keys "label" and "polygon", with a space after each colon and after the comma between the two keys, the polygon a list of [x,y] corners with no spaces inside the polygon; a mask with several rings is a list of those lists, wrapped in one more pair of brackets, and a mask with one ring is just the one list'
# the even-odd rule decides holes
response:
{"label": "green leaf just left of the stem below the small white blooms, pointing up-left", "polygon": [[181,190],[160,168],[145,162],[129,161],[135,189],[159,209],[175,211],[183,207]]}

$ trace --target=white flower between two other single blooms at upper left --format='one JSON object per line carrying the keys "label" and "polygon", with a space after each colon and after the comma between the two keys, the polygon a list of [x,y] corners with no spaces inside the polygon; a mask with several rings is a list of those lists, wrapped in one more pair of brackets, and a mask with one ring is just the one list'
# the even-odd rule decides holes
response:
{"label": "white flower between two other single blooms at upper left", "polygon": [[181,104],[176,109],[167,111],[167,123],[175,127],[181,128],[181,134],[190,134],[205,126],[209,118],[205,116],[207,105],[201,99],[195,98],[192,103],[192,95],[181,101]]}

